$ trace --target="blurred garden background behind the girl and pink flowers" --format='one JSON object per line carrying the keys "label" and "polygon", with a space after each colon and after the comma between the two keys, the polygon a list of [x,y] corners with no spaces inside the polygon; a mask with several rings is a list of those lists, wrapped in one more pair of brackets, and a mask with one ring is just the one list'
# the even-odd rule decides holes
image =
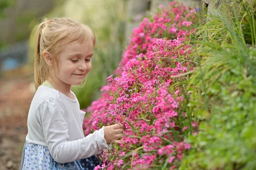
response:
{"label": "blurred garden background behind the girl and pink flowers", "polygon": [[[172,0],[0,0],[0,170],[18,170],[27,134],[33,84],[34,26],[41,17],[72,17],[96,34],[93,68],[83,88],[73,87],[81,109],[100,96],[133,28]],[[201,0],[180,0],[196,6]]]}

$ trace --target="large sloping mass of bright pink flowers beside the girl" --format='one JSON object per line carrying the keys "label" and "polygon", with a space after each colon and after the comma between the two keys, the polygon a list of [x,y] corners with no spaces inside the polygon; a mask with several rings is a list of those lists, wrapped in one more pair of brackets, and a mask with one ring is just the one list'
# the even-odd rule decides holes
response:
{"label": "large sloping mass of bright pink flowers beside the girl", "polygon": [[[182,105],[183,85],[187,76],[177,75],[194,69],[189,45],[182,45],[194,31],[195,10],[172,2],[169,9],[160,8],[152,19],[144,18],[134,29],[132,39],[115,76],[101,98],[87,108],[92,113],[85,119],[85,134],[103,125],[121,122],[125,136],[104,153],[99,169],[175,169],[183,153],[190,149],[184,141],[189,126]],[[191,130],[191,129],[190,129]]]}

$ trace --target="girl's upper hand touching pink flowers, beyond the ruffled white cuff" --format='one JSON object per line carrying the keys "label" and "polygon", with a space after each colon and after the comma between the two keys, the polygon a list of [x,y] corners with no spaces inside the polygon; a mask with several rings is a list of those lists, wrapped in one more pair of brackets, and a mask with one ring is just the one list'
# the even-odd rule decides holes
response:
{"label": "girl's upper hand touching pink flowers, beyond the ruffled white cuff", "polygon": [[115,139],[123,136],[124,126],[122,124],[115,124],[104,127],[105,139],[107,144],[111,144]]}

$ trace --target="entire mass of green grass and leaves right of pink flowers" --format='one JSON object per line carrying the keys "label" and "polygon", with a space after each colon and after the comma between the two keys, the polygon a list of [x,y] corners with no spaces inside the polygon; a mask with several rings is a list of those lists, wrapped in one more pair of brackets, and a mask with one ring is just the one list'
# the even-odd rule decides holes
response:
{"label": "entire mass of green grass and leaves right of pink flowers", "polygon": [[255,4],[223,1],[220,15],[198,28],[188,107],[201,123],[181,170],[256,169]]}

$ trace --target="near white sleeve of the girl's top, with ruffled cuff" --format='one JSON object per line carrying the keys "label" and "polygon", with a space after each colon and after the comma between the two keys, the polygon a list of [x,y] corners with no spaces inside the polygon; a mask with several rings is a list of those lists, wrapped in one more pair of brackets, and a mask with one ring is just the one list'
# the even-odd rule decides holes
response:
{"label": "near white sleeve of the girl's top, with ruffled cuff", "polygon": [[88,158],[102,152],[108,144],[104,127],[83,139],[68,141],[69,126],[63,103],[58,98],[49,98],[39,107],[45,142],[52,158],[58,163],[67,163]]}

